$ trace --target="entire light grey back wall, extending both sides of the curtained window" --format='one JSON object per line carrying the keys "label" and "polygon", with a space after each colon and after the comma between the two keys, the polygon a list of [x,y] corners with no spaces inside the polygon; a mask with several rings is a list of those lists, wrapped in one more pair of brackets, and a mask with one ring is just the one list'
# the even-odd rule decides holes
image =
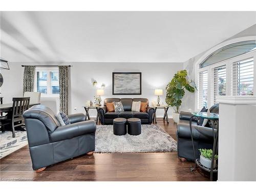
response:
{"label": "entire light grey back wall, extending both sides of the curtained window", "polygon": [[[10,62],[10,70],[2,70],[4,84],[1,87],[4,103],[12,102],[12,97],[22,96],[23,94],[23,72],[21,65],[46,65],[47,63],[20,63]],[[110,63],[110,62],[75,62],[75,63],[51,63],[52,65],[72,65],[71,67],[71,113],[84,113],[82,106],[87,100],[94,101],[96,90],[101,84],[105,84],[104,96],[102,100],[108,97],[133,98],[145,97],[156,101],[157,96],[154,95],[155,89],[163,89],[165,95],[165,86],[173,78],[178,70],[183,69],[183,63]],[[48,63],[49,65],[49,63]],[[112,95],[112,72],[141,72],[142,74],[142,94],[141,95]],[[96,79],[98,88],[92,86],[92,80]],[[190,94],[190,93],[188,93]],[[164,102],[165,96],[160,96],[161,103]],[[41,99],[42,104],[46,104],[53,111],[56,106],[48,102],[47,98]],[[103,102],[103,101],[102,101]],[[165,102],[164,102],[165,103]],[[74,108],[77,108],[75,111]],[[96,111],[92,110],[91,116],[96,115]],[[172,115],[172,109],[169,109],[169,117]],[[163,110],[157,111],[157,116],[163,116]]]}

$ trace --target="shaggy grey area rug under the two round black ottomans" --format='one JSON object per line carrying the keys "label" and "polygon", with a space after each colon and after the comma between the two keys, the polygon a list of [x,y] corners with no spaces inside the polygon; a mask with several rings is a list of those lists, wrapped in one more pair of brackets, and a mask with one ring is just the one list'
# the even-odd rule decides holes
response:
{"label": "shaggy grey area rug under the two round black ottomans", "polygon": [[95,153],[177,152],[177,142],[159,125],[141,125],[141,134],[116,136],[113,125],[97,125]]}

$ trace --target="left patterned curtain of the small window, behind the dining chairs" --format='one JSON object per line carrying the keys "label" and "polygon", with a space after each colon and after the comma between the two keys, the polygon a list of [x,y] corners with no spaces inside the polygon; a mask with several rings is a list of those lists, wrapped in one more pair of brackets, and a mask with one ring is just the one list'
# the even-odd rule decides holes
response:
{"label": "left patterned curtain of the small window, behind the dining chairs", "polygon": [[23,93],[34,91],[35,66],[25,66],[23,77]]}

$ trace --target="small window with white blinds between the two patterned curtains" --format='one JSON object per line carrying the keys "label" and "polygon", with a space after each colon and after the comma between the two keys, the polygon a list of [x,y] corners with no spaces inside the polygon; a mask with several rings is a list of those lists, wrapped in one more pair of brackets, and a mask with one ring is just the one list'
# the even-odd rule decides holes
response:
{"label": "small window with white blinds between the two patterned curtains", "polygon": [[35,90],[42,96],[55,97],[59,95],[58,68],[36,68]]}

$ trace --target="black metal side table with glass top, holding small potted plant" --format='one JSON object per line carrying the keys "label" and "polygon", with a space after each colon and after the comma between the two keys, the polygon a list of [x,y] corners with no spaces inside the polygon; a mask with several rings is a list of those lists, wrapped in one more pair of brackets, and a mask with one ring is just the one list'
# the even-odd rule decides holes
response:
{"label": "black metal side table with glass top, holding small potted plant", "polygon": [[[201,156],[204,156],[206,158],[211,157],[211,161],[210,161],[210,168],[207,167],[207,161],[206,159],[202,158],[203,162],[201,162],[201,156],[200,156],[200,160],[196,159],[195,160],[195,166],[194,167],[190,167],[190,170],[193,171],[197,168],[197,165],[206,170],[207,172],[210,172],[210,180],[212,181],[212,175],[213,173],[217,173],[218,172],[218,167],[217,165],[215,165],[214,163],[216,163],[216,159],[218,159],[218,156],[216,155],[216,149],[218,146],[218,135],[219,135],[219,114],[216,113],[207,113],[207,112],[193,112],[192,113],[193,116],[190,117],[189,120],[189,127],[190,127],[190,134],[191,134],[191,141],[192,141],[192,145],[193,145],[193,152],[194,152],[194,157],[196,159],[196,152],[195,152],[195,145],[194,145],[194,139],[193,139],[193,134],[192,134],[192,121],[194,120],[199,120],[200,118],[204,118],[204,119],[208,119],[209,125],[212,128],[212,134],[214,137],[214,146],[212,149],[212,153],[211,151],[208,150],[200,150],[201,152]],[[215,132],[215,130],[217,130]]]}

